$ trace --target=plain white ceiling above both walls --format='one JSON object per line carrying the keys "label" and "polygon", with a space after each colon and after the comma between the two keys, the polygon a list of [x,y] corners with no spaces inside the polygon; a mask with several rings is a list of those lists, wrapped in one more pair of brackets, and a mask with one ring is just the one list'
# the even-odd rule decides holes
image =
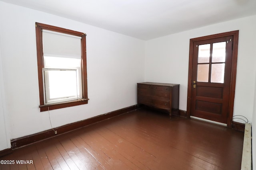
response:
{"label": "plain white ceiling above both walls", "polygon": [[1,0],[149,40],[256,15],[256,0]]}

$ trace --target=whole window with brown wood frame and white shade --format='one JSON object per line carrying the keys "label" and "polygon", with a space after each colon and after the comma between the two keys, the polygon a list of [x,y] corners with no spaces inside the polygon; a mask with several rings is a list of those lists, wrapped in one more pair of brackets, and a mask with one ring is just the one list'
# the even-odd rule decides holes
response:
{"label": "whole window with brown wood frame and white shade", "polygon": [[40,111],[88,103],[86,34],[36,23]]}

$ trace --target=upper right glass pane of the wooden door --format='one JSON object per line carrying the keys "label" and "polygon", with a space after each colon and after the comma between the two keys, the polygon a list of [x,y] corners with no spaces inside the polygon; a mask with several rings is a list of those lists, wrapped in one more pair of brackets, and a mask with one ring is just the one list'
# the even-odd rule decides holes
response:
{"label": "upper right glass pane of the wooden door", "polygon": [[226,41],[213,43],[212,45],[212,62],[225,62],[226,58]]}

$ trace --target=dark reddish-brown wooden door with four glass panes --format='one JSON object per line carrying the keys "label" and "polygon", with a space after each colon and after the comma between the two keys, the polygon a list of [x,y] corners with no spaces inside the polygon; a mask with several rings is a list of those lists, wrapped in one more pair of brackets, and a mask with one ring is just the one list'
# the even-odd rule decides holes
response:
{"label": "dark reddish-brown wooden door with four glass panes", "polygon": [[233,43],[234,35],[224,35],[190,44],[190,115],[229,124],[230,107],[234,105],[234,98],[230,98],[235,83]]}

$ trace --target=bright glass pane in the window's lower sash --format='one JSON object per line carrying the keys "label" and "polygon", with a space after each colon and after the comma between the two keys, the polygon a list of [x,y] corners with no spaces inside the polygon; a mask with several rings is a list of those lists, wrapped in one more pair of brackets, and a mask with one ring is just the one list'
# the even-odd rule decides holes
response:
{"label": "bright glass pane in the window's lower sash", "polygon": [[56,98],[68,98],[77,96],[76,71],[48,70],[48,87],[49,100]]}

